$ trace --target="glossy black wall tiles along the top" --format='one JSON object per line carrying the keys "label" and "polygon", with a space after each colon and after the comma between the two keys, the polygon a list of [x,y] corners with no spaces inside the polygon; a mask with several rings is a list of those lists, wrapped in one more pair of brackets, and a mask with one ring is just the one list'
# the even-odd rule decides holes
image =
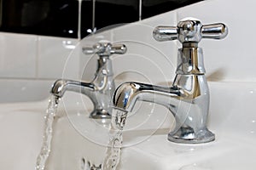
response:
{"label": "glossy black wall tiles along the top", "polygon": [[106,26],[143,20],[199,1],[142,0],[140,16],[139,0],[83,0],[81,6],[79,0],[0,0],[0,31],[85,37],[89,34],[88,29],[93,30],[94,27],[99,30]]}

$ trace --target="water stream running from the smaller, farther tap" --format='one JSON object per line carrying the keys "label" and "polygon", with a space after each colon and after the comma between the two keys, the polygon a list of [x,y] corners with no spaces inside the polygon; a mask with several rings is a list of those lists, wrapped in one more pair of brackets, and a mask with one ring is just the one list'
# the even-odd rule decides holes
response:
{"label": "water stream running from the smaller, farther tap", "polygon": [[46,116],[44,116],[44,135],[43,144],[40,153],[37,158],[36,170],[44,170],[46,161],[49,157],[51,149],[51,140],[53,136],[53,126],[55,120],[55,113],[57,111],[59,98],[52,95],[49,99],[48,109],[46,110]]}

